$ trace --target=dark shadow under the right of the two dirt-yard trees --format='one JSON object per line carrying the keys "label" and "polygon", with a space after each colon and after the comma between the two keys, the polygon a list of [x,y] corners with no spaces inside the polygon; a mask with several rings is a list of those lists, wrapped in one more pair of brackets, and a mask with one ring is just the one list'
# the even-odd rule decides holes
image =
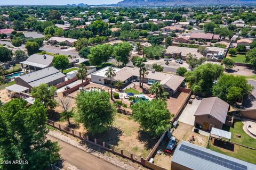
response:
{"label": "dark shadow under the right of the two dirt-yard trees", "polygon": [[151,149],[155,146],[156,142],[158,141],[158,139],[156,138],[152,138],[148,132],[145,132],[143,130],[139,130],[138,131],[138,140],[143,143],[144,147],[146,149]]}

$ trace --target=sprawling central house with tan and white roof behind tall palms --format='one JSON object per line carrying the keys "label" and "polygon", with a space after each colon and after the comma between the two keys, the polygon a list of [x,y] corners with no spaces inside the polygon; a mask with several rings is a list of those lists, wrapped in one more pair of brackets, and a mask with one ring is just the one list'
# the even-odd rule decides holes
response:
{"label": "sprawling central house with tan and white roof behind tall palms", "polygon": [[[93,72],[91,74],[91,81],[99,84],[110,84],[110,78],[105,76],[106,71],[109,67],[105,67],[97,72]],[[122,69],[114,68],[115,77],[112,78],[112,81],[115,82],[117,80],[123,81],[125,84],[131,83],[132,81],[139,81],[139,69],[137,67],[123,67]],[[177,92],[178,88],[181,86],[183,80],[185,78],[180,77],[179,75],[156,72],[151,70],[148,72],[146,78],[142,81],[145,83],[153,84],[158,81],[165,89],[165,91],[169,92],[170,95],[174,95]]]}

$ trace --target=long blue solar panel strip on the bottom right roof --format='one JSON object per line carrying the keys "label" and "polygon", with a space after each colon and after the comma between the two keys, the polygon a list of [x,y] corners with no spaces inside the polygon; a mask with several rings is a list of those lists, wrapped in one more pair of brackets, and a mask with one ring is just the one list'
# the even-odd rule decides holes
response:
{"label": "long blue solar panel strip on the bottom right roof", "polygon": [[179,150],[181,150],[183,152],[186,152],[187,154],[194,155],[196,157],[208,160],[208,161],[213,162],[215,164],[225,166],[229,169],[247,170],[247,166],[245,166],[245,165],[238,164],[238,163],[233,162],[231,160],[221,158],[219,156],[215,156],[215,155],[209,154],[209,153],[201,151],[199,149],[191,148],[191,147],[183,145],[183,144],[180,146]]}

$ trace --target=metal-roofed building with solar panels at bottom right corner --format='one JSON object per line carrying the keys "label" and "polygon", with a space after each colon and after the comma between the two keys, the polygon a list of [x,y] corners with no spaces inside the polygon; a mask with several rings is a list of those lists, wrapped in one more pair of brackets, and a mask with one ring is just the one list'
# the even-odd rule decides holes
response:
{"label": "metal-roofed building with solar panels at bottom right corner", "polygon": [[253,170],[255,165],[187,141],[181,141],[172,156],[171,170],[191,169]]}

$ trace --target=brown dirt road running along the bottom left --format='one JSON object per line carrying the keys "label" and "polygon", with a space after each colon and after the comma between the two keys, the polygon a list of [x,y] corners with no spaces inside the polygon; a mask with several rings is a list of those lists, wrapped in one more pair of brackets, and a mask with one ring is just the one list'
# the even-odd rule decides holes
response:
{"label": "brown dirt road running along the bottom left", "polygon": [[48,139],[51,141],[58,141],[61,150],[60,154],[63,159],[65,159],[71,165],[76,166],[78,169],[81,170],[121,170],[113,164],[105,162],[105,160],[99,159],[87,152],[78,149],[69,145],[66,142],[63,142],[59,139],[56,139],[50,135],[46,135]]}

